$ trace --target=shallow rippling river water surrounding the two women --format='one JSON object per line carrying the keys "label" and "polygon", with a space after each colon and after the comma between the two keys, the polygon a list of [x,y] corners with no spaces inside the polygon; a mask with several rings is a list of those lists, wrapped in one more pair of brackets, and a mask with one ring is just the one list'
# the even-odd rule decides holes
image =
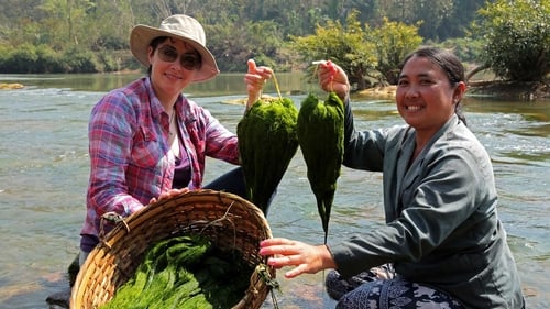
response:
{"label": "shallow rippling river water surrounding the two women", "polygon": [[[105,92],[133,75],[0,75],[25,88],[0,90],[0,309],[47,308],[64,289],[78,252],[89,173],[87,123]],[[297,104],[311,90],[295,75],[280,75],[284,96]],[[266,92],[274,91],[270,87]],[[221,75],[186,90],[235,131],[245,92],[242,75]],[[275,95],[275,93],[273,93]],[[356,98],[358,129],[402,123],[392,99]],[[494,164],[499,216],[520,271],[527,308],[550,308],[550,101],[516,102],[469,97],[471,130]],[[207,162],[207,181],[232,166]],[[342,168],[329,228],[338,240],[384,222],[382,179]],[[278,188],[267,219],[275,236],[321,243],[315,197],[298,153]],[[278,273],[280,308],[333,308],[322,275],[287,280]],[[263,308],[273,308],[268,297]]]}

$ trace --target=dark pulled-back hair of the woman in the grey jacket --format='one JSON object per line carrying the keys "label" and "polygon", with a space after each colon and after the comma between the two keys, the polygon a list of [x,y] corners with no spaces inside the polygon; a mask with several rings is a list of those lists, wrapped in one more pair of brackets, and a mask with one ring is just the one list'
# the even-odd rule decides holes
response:
{"label": "dark pulled-back hair of the woman in the grey jacket", "polygon": [[[460,59],[450,51],[437,47],[420,47],[405,57],[400,65],[400,70],[405,64],[414,56],[428,58],[431,63],[437,65],[442,71],[447,74],[449,82],[452,87],[461,81],[466,81],[464,75],[464,66]],[[462,104],[460,101],[454,106],[454,113],[459,119],[466,124],[466,118],[462,113]]]}

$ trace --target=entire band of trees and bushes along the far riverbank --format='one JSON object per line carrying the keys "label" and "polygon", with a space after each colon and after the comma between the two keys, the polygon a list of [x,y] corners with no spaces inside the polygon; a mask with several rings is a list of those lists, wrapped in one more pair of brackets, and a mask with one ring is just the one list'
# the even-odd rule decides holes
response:
{"label": "entire band of trees and bushes along the far riverbank", "polygon": [[[482,60],[497,75],[531,80],[548,74],[549,1],[492,0],[475,15],[484,4],[485,0],[0,0],[0,71],[138,69],[141,65],[129,51],[131,29],[186,13],[205,25],[208,47],[222,71],[245,70],[248,58],[276,70],[311,68],[311,60],[330,58],[363,88],[370,82],[393,84],[398,60],[421,38],[429,44],[446,40],[447,47],[476,62],[481,37],[487,42]],[[474,16],[479,27],[473,33],[480,36],[465,37]]]}

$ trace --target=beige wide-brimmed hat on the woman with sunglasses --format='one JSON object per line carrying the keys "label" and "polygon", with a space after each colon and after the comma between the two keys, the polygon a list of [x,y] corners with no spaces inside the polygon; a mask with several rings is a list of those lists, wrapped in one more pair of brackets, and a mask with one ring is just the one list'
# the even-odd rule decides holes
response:
{"label": "beige wide-brimmed hat on the woman with sunglasses", "polygon": [[220,73],[212,53],[206,47],[205,30],[194,18],[177,14],[163,20],[160,27],[139,24],[132,29],[132,33],[130,34],[130,49],[135,58],[146,67],[150,66],[147,48],[151,41],[158,36],[182,40],[199,52],[202,65],[195,73],[193,81],[205,81]]}

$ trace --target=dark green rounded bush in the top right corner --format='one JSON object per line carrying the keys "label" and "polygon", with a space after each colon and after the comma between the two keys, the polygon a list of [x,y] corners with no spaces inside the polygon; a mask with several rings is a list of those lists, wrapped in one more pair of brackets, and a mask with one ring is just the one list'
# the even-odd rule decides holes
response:
{"label": "dark green rounded bush in the top right corner", "polygon": [[496,76],[541,81],[549,73],[550,1],[496,0],[479,11],[474,31],[486,42],[483,62]]}

